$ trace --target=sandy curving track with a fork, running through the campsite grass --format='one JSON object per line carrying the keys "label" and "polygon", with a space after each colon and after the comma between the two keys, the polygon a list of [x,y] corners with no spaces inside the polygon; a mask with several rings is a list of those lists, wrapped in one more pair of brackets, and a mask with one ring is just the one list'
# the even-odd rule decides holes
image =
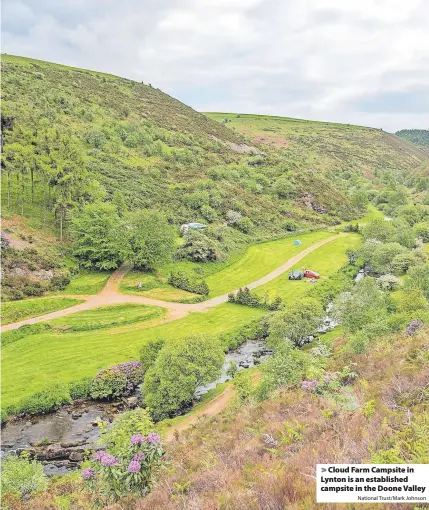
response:
{"label": "sandy curving track with a fork, running through the campsite grass", "polygon": [[[278,276],[282,275],[286,271],[288,271],[291,267],[297,264],[300,260],[306,257],[309,253],[321,246],[338,239],[339,237],[344,237],[347,234],[338,234],[328,239],[324,239],[323,241],[319,241],[316,244],[306,248],[301,251],[294,257],[290,258],[283,265],[271,271],[267,275],[263,276],[259,280],[255,282],[249,283],[247,287],[249,289],[255,289],[260,285],[264,285],[265,283],[274,280]],[[100,306],[108,306],[108,305],[118,305],[124,303],[135,303],[141,305],[149,305],[149,306],[160,306],[162,308],[166,308],[168,310],[167,316],[163,319],[163,322],[171,322],[177,319],[181,319],[185,317],[190,312],[202,312],[209,308],[213,308],[214,306],[220,305],[222,303],[226,303],[228,301],[228,294],[223,294],[222,296],[217,296],[212,299],[208,299],[207,301],[202,301],[200,303],[192,303],[192,304],[184,304],[184,303],[172,303],[169,301],[161,301],[158,299],[151,299],[143,296],[129,296],[127,294],[121,294],[118,292],[119,282],[123,278],[123,276],[130,271],[131,266],[122,265],[119,269],[117,269],[112,276],[109,278],[106,286],[103,288],[95,296],[79,296],[82,299],[85,299],[84,303],[80,303],[79,305],[71,306],[70,308],[65,308],[63,310],[57,310],[56,312],[50,312],[45,315],[39,315],[38,317],[32,317],[30,319],[25,319],[19,322],[14,322],[13,324],[7,324],[2,326],[1,332],[9,331],[12,329],[17,329],[24,325],[29,324],[37,324],[39,322],[50,321],[53,319],[57,319],[59,317],[65,317],[66,315],[70,315],[76,312],[83,312],[85,310],[91,310],[92,308],[98,308]],[[232,292],[236,292],[238,289]],[[66,297],[66,296],[65,296]],[[69,297],[69,296],[67,296]],[[73,297],[73,296],[70,296]]]}

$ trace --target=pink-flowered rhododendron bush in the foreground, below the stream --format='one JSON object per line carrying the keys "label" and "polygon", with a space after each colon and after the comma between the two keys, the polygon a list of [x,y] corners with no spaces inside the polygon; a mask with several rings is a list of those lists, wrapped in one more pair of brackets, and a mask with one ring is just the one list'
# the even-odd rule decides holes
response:
{"label": "pink-flowered rhododendron bush in the foreground, below the stream", "polygon": [[150,492],[156,474],[166,463],[160,436],[155,432],[134,434],[114,452],[99,450],[93,455],[81,473],[86,488],[103,503],[130,493]]}

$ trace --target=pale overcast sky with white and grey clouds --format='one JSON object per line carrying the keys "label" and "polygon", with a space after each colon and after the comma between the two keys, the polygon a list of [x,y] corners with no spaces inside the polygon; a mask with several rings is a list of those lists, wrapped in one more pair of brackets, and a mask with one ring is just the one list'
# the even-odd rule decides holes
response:
{"label": "pale overcast sky with white and grey clouds", "polygon": [[2,51],[200,111],[429,129],[428,0],[3,0]]}

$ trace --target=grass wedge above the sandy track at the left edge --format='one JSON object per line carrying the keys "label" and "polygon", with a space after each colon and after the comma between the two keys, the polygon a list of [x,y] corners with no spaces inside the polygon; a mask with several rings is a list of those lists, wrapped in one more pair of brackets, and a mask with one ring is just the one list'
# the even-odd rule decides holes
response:
{"label": "grass wedge above the sandy track at the left edge", "polygon": [[8,301],[1,304],[1,322],[11,324],[30,317],[37,317],[45,313],[62,310],[69,306],[82,303],[81,299],[46,297],[24,299],[22,301]]}

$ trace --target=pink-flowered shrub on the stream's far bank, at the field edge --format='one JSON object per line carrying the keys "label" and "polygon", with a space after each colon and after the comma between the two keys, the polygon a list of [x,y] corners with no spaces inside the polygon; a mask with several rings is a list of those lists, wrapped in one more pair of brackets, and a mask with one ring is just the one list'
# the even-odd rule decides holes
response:
{"label": "pink-flowered shrub on the stream's far bank, at the field edge", "polygon": [[142,381],[143,369],[139,361],[118,363],[96,375],[90,395],[101,400],[130,395]]}

